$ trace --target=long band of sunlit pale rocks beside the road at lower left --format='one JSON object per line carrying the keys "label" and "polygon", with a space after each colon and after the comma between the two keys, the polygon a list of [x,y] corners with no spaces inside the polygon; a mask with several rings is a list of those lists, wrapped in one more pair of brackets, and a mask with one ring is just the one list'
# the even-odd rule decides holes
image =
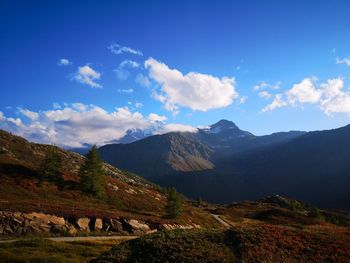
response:
{"label": "long band of sunlit pale rocks beside the road at lower left", "polygon": [[120,235],[144,235],[157,230],[191,229],[200,226],[178,224],[149,224],[126,218],[65,218],[44,213],[0,211],[0,236],[20,236],[27,233],[69,233],[105,231]]}

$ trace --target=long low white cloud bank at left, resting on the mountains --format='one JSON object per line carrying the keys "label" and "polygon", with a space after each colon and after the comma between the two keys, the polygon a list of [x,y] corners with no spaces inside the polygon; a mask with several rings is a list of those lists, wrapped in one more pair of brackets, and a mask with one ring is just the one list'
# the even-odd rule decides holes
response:
{"label": "long low white cloud bank at left, resting on the mountains", "polygon": [[[73,103],[60,109],[31,112],[37,118],[6,117],[0,112],[0,129],[23,136],[28,140],[57,144],[64,147],[82,147],[85,144],[103,145],[117,140],[129,129],[141,129],[151,134],[169,131],[196,131],[182,124],[168,124],[166,117],[155,113],[143,116],[127,107],[107,112],[95,105]],[[23,111],[26,112],[26,111]]]}

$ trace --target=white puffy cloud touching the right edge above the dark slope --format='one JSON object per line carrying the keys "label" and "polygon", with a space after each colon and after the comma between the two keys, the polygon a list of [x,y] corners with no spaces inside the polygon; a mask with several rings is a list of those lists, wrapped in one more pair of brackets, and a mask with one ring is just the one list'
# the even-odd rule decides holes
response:
{"label": "white puffy cloud touching the right edge above the dark slope", "polygon": [[277,94],[262,112],[272,111],[284,106],[314,104],[327,115],[345,113],[350,116],[350,91],[344,90],[342,78],[329,79],[320,85],[315,78],[306,78],[292,86],[283,94]]}

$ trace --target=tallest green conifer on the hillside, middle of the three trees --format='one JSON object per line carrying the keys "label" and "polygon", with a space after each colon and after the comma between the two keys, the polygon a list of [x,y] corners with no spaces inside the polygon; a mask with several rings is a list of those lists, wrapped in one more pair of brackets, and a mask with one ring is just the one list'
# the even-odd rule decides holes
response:
{"label": "tallest green conifer on the hillside, middle of the three trees", "polygon": [[105,194],[104,172],[102,161],[94,145],[86,155],[80,168],[82,189],[95,197],[102,198]]}

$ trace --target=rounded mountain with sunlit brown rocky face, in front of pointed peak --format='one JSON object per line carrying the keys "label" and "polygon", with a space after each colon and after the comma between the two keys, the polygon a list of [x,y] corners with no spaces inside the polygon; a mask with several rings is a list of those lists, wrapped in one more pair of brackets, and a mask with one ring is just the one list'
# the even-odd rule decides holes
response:
{"label": "rounded mountain with sunlit brown rocky face, in front of pointed peak", "polygon": [[110,144],[99,148],[104,161],[145,177],[173,171],[199,171],[213,168],[208,146],[192,133],[172,132],[154,135],[130,144]]}

